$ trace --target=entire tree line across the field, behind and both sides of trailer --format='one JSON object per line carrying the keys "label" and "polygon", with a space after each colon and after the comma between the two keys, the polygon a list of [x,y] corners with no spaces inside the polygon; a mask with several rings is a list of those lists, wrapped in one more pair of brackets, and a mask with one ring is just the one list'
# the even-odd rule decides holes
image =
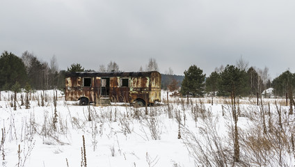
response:
{"label": "entire tree line across the field, behind and both sides of trailer", "polygon": [[[145,65],[145,71],[158,71],[159,67],[154,58],[150,58]],[[56,56],[52,56],[49,63],[40,61],[37,56],[29,51],[24,51],[21,57],[3,51],[0,57],[0,89],[12,90],[13,85],[19,84],[21,88],[30,86],[35,90],[48,90],[53,88],[63,89],[65,86],[65,72],[94,71],[85,70],[79,63],[72,63],[67,70],[58,70]],[[108,65],[99,65],[101,72],[120,71],[119,65],[111,61]],[[144,71],[141,66],[138,71]],[[240,58],[236,65],[221,65],[206,77],[196,65],[191,65],[184,71],[184,78],[177,79],[173,70],[166,72],[164,88],[175,91],[180,86],[182,95],[202,97],[205,93],[213,96],[230,96],[231,90],[236,95],[251,96],[261,94],[267,88],[274,88],[274,95],[283,96],[286,93],[293,95],[295,88],[295,74],[286,70],[279,77],[269,78],[269,69],[248,67],[248,62]]]}

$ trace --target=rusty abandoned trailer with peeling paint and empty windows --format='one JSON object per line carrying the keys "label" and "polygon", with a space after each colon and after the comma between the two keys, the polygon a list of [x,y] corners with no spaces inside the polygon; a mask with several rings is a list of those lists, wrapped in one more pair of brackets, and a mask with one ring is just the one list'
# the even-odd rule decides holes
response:
{"label": "rusty abandoned trailer with peeling paint and empty windows", "polygon": [[161,102],[161,74],[152,72],[67,72],[65,100],[80,105]]}

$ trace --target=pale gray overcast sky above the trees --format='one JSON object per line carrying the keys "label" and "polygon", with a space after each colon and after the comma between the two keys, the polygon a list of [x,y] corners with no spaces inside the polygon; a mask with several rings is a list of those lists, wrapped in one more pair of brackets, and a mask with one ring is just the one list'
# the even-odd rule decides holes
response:
{"label": "pale gray overcast sky above the trees", "polygon": [[196,64],[207,76],[242,55],[273,79],[295,72],[294,16],[285,0],[1,0],[0,51],[55,55],[60,70],[132,71],[155,58],[160,72]]}

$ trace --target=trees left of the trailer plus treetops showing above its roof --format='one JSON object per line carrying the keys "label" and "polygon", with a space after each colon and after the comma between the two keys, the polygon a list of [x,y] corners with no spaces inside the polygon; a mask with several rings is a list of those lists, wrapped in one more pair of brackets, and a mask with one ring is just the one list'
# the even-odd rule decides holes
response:
{"label": "trees left of the trailer plus treetops showing above its roof", "polygon": [[[150,58],[146,71],[158,71],[154,58]],[[67,70],[58,70],[56,56],[52,56],[49,63],[40,61],[37,56],[29,51],[24,51],[22,56],[3,51],[0,56],[0,90],[13,90],[13,88],[30,88],[33,90],[49,90],[65,88],[66,72],[91,72],[85,70],[80,63],[72,63]],[[100,72],[118,72],[119,65],[111,61],[108,65],[99,65]],[[143,67],[139,69],[143,71]]]}

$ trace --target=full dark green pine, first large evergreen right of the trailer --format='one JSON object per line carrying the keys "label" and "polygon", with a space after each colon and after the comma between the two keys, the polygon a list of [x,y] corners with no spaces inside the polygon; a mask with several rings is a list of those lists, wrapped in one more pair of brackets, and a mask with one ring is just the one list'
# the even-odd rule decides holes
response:
{"label": "full dark green pine, first large evergreen right of the trailer", "polygon": [[182,95],[192,95],[193,97],[201,97],[204,95],[205,76],[203,71],[196,65],[191,65],[189,70],[184,71],[184,80],[180,92]]}

